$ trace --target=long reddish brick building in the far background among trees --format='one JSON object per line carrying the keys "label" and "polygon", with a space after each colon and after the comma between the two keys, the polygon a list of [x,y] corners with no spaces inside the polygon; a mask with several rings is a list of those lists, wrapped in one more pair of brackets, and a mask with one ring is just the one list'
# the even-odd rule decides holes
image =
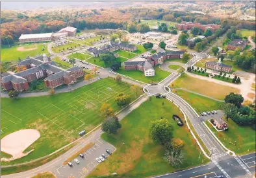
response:
{"label": "long reddish brick building in the far background among trees", "polygon": [[181,23],[175,24],[175,27],[177,28],[177,30],[190,30],[193,27],[198,27],[203,31],[210,28],[212,32],[215,32],[218,28],[220,28],[220,25],[216,25],[216,24],[201,25],[201,23],[182,21]]}

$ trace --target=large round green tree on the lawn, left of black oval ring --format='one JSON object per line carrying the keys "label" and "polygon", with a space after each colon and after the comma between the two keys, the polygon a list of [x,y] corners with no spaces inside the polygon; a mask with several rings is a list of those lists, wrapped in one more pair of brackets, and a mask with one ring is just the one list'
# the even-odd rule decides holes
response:
{"label": "large round green tree on the lawn, left of black oval ring", "polygon": [[149,135],[153,142],[164,145],[172,139],[172,129],[172,125],[166,118],[155,120],[150,124]]}

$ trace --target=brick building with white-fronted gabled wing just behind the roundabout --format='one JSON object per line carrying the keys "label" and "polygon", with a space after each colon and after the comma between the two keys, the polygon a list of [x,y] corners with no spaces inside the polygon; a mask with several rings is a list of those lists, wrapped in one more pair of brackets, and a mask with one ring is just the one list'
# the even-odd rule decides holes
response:
{"label": "brick building with white-fronted gabled wing just behind the roundabout", "polygon": [[125,61],[125,70],[138,70],[144,72],[145,76],[155,76],[155,69],[153,68],[155,65],[161,64],[167,59],[182,58],[184,53],[181,51],[165,51],[164,49],[158,50],[162,52],[147,58],[136,58],[136,61]]}

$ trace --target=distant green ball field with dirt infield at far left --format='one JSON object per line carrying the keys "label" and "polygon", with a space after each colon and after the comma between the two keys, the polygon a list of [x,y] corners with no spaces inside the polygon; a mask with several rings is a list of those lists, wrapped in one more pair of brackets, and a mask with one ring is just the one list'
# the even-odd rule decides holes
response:
{"label": "distant green ball field with dirt infield at far left", "polygon": [[[24,47],[26,50],[18,50],[19,47]],[[25,45],[15,45],[10,48],[5,46],[1,47],[1,61],[18,61],[19,58],[23,60],[27,58],[27,56],[36,56],[44,53],[48,54],[47,46],[45,47],[45,44],[32,43]]]}

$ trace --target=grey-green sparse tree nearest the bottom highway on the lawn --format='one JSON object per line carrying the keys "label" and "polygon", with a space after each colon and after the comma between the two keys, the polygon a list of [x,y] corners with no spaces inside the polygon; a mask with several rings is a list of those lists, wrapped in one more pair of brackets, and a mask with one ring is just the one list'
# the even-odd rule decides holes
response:
{"label": "grey-green sparse tree nearest the bottom highway on the lawn", "polygon": [[177,168],[185,161],[185,154],[183,153],[183,150],[174,148],[171,144],[168,144],[164,153],[164,160],[169,162],[169,164],[171,164],[173,167]]}

